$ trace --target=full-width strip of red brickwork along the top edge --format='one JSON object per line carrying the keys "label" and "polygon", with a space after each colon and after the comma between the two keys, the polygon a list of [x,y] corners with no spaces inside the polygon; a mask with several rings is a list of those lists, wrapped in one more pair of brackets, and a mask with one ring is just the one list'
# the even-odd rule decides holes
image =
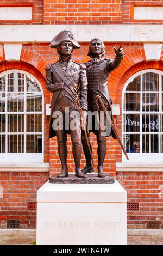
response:
{"label": "full-width strip of red brickwork along the top edge", "polygon": [[[32,21],[1,21],[0,24],[119,24],[142,23],[134,21],[132,10],[134,5],[161,5],[163,1],[153,0],[2,0],[1,6],[29,6],[34,8]],[[162,23],[162,21],[146,21],[146,23]]]}

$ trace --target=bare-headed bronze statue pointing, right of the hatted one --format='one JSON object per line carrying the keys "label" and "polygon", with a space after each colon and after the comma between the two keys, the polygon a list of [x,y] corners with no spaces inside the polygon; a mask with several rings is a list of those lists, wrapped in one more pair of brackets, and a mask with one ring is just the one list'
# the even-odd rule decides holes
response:
{"label": "bare-headed bronze statue pointing, right of the hatted one", "polygon": [[[108,90],[108,78],[109,74],[112,70],[116,69],[123,58],[123,48],[122,45],[116,49],[114,47],[116,57],[115,59],[104,59],[103,56],[105,54],[104,43],[99,38],[93,38],[90,41],[89,45],[89,53],[88,56],[92,58],[89,62],[85,63],[87,68],[87,81],[88,81],[88,110],[91,112],[98,111],[98,120],[101,122],[102,116],[101,113],[103,111],[101,104],[97,106],[97,95],[101,97],[101,100],[104,103],[106,111],[111,111],[111,99]],[[96,118],[96,117],[95,117]],[[112,112],[111,112],[111,120],[113,120]],[[96,121],[96,120],[94,120]],[[104,125],[107,125],[106,116],[103,119]],[[95,127],[95,124],[94,126]],[[95,133],[97,137],[98,143],[98,176],[103,178],[105,177],[103,171],[103,162],[106,155],[106,137],[112,135],[113,138],[117,139],[114,130],[112,128],[106,131],[105,136],[102,136],[102,130],[99,126],[98,130],[95,130],[92,127],[92,132]],[[85,133],[82,132],[82,144],[83,150],[86,159],[86,166],[82,170],[84,174],[93,172],[93,165],[91,161],[91,155],[89,148],[87,147]]]}

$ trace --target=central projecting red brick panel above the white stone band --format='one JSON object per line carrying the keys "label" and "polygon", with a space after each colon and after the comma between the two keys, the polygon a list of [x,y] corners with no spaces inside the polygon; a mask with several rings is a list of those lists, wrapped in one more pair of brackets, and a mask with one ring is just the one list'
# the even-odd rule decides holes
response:
{"label": "central projecting red brick panel above the white stone band", "polygon": [[44,24],[118,24],[121,14],[121,0],[44,1]]}

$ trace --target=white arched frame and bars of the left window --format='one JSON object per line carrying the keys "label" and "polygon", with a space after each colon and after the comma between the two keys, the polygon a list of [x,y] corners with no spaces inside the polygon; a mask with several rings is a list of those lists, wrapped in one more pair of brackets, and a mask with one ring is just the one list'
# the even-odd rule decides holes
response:
{"label": "white arched frame and bars of the left window", "polygon": [[[0,74],[0,77],[4,76],[4,75],[8,75],[10,73],[22,73],[24,75],[29,75],[30,77],[32,77],[35,82],[38,84],[38,86],[40,87],[40,93],[42,94],[42,111],[28,111],[25,112],[23,111],[23,114],[42,114],[42,132],[23,132],[24,135],[28,135],[28,134],[39,134],[42,136],[42,153],[0,153],[0,162],[39,162],[39,163],[43,163],[43,153],[44,153],[44,97],[43,97],[43,90],[42,90],[42,86],[40,84],[40,82],[37,80],[36,77],[34,77],[32,74],[30,74],[29,72],[26,72],[24,70],[20,70],[20,69],[11,69],[11,70],[7,70],[4,71]],[[24,83],[26,83],[26,79],[24,79]],[[7,91],[7,86],[5,86],[5,91],[2,91],[2,93],[8,93]],[[24,84],[24,92],[26,92],[26,84]],[[15,93],[15,92],[14,92]],[[21,93],[21,92],[19,92]],[[32,92],[32,93],[36,93],[36,92]],[[25,101],[25,96],[26,94],[24,94],[24,107],[26,107],[26,101]],[[7,100],[7,98],[6,98]],[[5,109],[5,112],[1,112],[1,114],[5,114],[7,115],[8,113],[14,113],[14,114],[20,114],[21,112],[8,112],[8,109]],[[7,120],[7,119],[6,119]],[[24,131],[26,131],[26,118],[24,118]],[[5,126],[5,135],[8,135],[8,130],[7,130],[8,126]],[[15,132],[16,134],[21,134],[20,132]],[[7,144],[7,140],[5,140],[6,144]],[[7,147],[7,145],[6,145]],[[6,148],[5,147],[5,148]],[[26,147],[26,136],[24,136],[24,149]],[[6,148],[7,149],[7,148]]]}

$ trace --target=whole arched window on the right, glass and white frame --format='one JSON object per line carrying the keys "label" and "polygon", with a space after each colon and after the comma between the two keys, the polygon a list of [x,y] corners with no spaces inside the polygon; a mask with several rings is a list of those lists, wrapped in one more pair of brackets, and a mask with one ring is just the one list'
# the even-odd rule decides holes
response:
{"label": "whole arched window on the right, glass and white frame", "polygon": [[163,161],[163,72],[143,70],[130,77],[122,94],[122,124],[130,160]]}

